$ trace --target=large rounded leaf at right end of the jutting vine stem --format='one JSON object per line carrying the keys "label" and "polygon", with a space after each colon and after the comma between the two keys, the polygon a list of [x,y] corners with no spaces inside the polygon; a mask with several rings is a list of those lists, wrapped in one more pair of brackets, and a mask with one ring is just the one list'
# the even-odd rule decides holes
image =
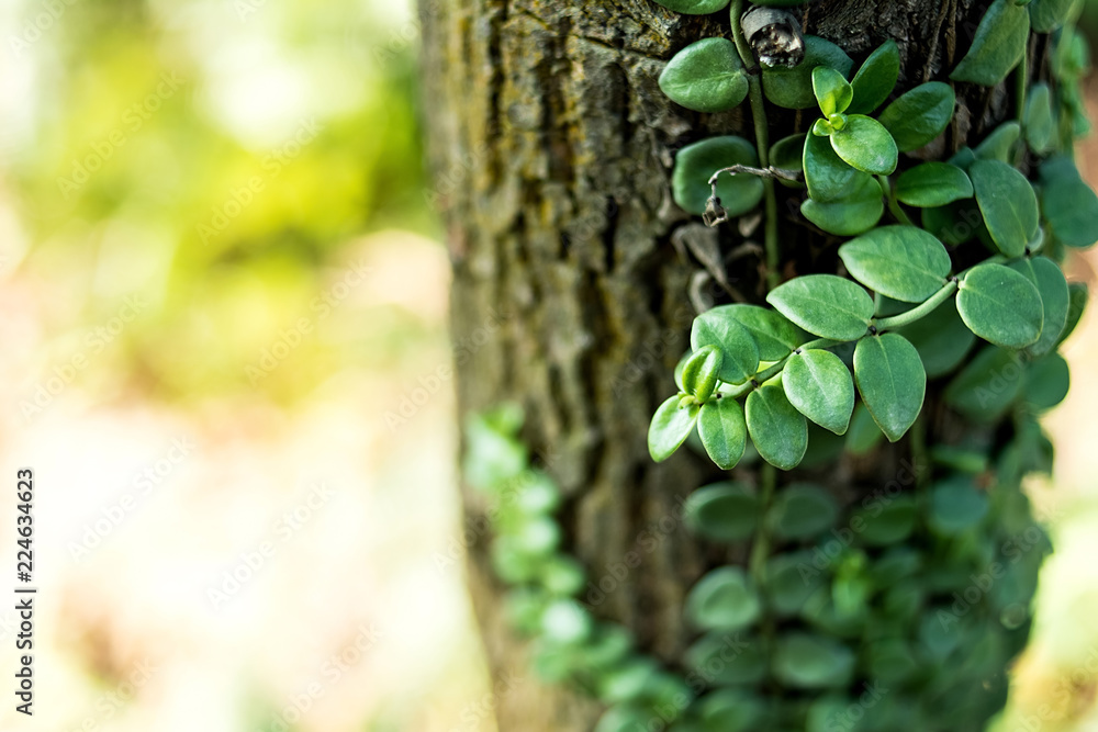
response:
{"label": "large rounded leaf at right end of the jutting vine stem", "polygon": [[1002,264],[977,264],[960,283],[957,312],[968,328],[996,346],[1026,348],[1044,323],[1041,294],[1023,275]]}

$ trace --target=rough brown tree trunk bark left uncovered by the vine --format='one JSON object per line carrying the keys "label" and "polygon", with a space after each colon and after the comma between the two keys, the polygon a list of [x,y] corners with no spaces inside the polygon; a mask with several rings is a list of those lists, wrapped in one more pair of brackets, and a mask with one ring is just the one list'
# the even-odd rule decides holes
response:
{"label": "rough brown tree trunk bark left uncovered by the vine", "polygon": [[[703,297],[759,302],[763,293],[750,226],[699,228],[672,203],[669,184],[683,145],[718,132],[751,138],[748,106],[694,114],[668,101],[657,79],[687,43],[728,35],[728,16],[679,15],[651,0],[422,5],[424,114],[453,261],[461,413],[503,399],[526,407],[525,437],[570,497],[562,520],[570,550],[589,567],[589,604],[674,663],[687,640],[686,589],[714,561],[738,558],[714,555],[669,519],[717,473],[686,451],[653,464],[648,423],[688,346],[692,281]],[[944,79],[963,56],[986,9],[968,5],[820,0],[804,15],[807,32],[838,43],[855,64],[895,38],[903,91]],[[957,93],[957,122],[926,157],[978,139],[1012,103],[1001,88],[960,85]],[[772,139],[811,121],[771,115]],[[834,243],[805,226],[796,192],[782,193],[784,274],[834,271]],[[696,286],[715,250],[727,290]],[[849,500],[894,476],[905,450],[831,465],[822,480]],[[474,517],[482,506],[466,498]],[[529,677],[526,650],[501,617],[486,539],[470,549],[469,573],[491,669],[527,679],[500,695],[500,729],[592,729],[596,707]],[[640,566],[623,563],[630,551]]]}

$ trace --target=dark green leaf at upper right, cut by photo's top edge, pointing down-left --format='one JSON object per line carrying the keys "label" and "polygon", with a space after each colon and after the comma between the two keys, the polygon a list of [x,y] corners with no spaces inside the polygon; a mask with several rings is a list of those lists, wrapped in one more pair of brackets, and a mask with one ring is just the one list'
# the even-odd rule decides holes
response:
{"label": "dark green leaf at upper right, cut by photo's top edge, pointing down-left", "polygon": [[994,87],[1026,56],[1029,11],[1011,0],[995,0],[976,27],[968,53],[950,79]]}

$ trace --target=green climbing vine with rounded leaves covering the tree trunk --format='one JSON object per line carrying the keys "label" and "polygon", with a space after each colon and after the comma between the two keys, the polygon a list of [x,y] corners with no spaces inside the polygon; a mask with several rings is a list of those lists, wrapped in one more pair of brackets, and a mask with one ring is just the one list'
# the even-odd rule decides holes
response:
{"label": "green climbing vine with rounded leaves covering the tree trunk", "polygon": [[[688,14],[728,0],[658,0]],[[530,465],[522,412],[468,426],[467,480],[489,499],[492,560],[514,585],[515,626],[550,680],[607,706],[597,732],[977,730],[1005,703],[1050,544],[1021,491],[1049,472],[1037,417],[1066,395],[1057,347],[1086,303],[1061,269],[1098,240],[1098,196],[1073,162],[1089,131],[1088,67],[1074,0],[995,0],[951,82],[1013,78],[1015,119],[945,161],[914,153],[954,122],[946,81],[897,93],[894,41],[855,70],[803,35],[772,0],[731,3],[731,38],[702,38],[660,88],[696,112],[750,106],[754,140],[725,135],[676,156],[675,202],[710,226],[762,206],[765,303],[713,307],[693,324],[675,393],[652,418],[664,461],[684,443],[751,480],[695,491],[698,539],[744,548],[747,566],[701,577],[684,608],[697,640],[664,665],[578,597],[583,566],[561,552],[561,496]],[[744,12],[746,11],[746,12]],[[1050,82],[1027,78],[1046,34]],[[768,105],[800,110],[805,132],[769,140]],[[777,188],[836,241],[831,272],[782,281]],[[979,427],[928,444],[928,380]],[[1001,429],[1007,425],[1007,429]],[[895,481],[855,499],[780,471],[825,464],[883,440],[908,443]]]}

